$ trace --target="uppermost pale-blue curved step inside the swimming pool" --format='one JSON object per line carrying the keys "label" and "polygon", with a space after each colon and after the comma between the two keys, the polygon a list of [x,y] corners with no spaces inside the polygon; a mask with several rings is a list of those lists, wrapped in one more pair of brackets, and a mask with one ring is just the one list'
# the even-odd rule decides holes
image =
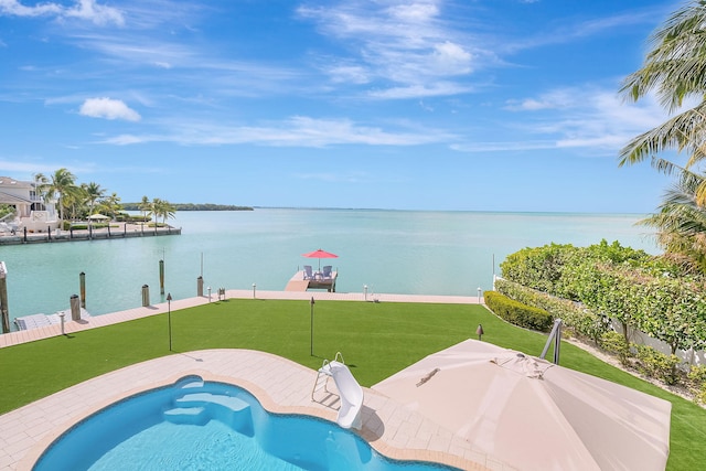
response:
{"label": "uppermost pale-blue curved step inside the swimming pool", "polygon": [[193,393],[178,398],[175,405],[183,409],[205,408],[208,419],[217,419],[248,437],[254,435],[250,405],[237,397]]}

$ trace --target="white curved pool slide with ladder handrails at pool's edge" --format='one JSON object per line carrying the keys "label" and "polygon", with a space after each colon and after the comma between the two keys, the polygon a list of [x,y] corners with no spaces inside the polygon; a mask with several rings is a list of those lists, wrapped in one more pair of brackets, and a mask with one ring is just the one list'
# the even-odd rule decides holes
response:
{"label": "white curved pool slide with ladder handrails at pool's edge", "polygon": [[323,364],[317,373],[317,381],[311,392],[311,400],[315,400],[314,394],[317,390],[324,389],[331,394],[327,388],[330,377],[333,378],[335,387],[339,389],[339,397],[341,398],[336,424],[343,428],[360,428],[361,408],[363,407],[363,388],[357,381],[355,381],[349,367],[345,366],[341,352],[335,354],[332,362],[328,360],[323,361]]}

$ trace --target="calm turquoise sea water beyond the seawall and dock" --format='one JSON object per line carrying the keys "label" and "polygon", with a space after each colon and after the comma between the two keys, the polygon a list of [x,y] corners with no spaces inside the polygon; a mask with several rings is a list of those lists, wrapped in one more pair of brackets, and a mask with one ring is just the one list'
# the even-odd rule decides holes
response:
{"label": "calm turquoise sea water beyond the seawall and dock", "polygon": [[[301,254],[322,248],[339,271],[336,290],[464,295],[490,289],[505,256],[549,243],[587,246],[619,240],[657,253],[643,215],[413,212],[377,210],[275,210],[180,212],[171,221],[181,236],[33,244],[0,247],[8,267],[10,317],[68,309],[86,274],[86,308],[103,314],[151,302],[159,293],[159,260],[174,299],[204,287],[284,290],[303,265]],[[204,288],[205,292],[205,288]]]}

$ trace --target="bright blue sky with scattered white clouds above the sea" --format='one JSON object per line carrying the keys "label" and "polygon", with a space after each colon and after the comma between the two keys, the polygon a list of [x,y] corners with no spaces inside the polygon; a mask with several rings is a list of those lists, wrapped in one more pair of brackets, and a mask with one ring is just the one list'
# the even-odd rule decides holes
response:
{"label": "bright blue sky with scattered white clouds above the sea", "polygon": [[124,202],[653,212],[664,0],[0,0],[0,174]]}

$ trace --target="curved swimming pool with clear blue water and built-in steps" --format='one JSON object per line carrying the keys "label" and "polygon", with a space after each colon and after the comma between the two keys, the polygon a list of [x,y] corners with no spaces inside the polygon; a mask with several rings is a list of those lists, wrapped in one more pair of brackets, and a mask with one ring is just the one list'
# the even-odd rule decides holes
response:
{"label": "curved swimming pool with clear blue water and built-in steps", "polygon": [[188,376],[120,400],[62,435],[35,471],[456,470],[395,461],[333,422],[266,411],[238,386]]}

